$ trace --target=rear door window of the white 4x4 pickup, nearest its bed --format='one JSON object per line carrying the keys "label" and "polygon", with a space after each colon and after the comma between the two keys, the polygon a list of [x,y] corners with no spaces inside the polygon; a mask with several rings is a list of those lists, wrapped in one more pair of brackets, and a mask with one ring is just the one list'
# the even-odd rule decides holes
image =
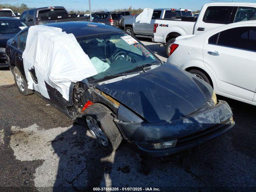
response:
{"label": "rear door window of the white 4x4 pickup, nearest its bed", "polygon": [[205,23],[228,24],[233,6],[210,6],[206,9],[203,21]]}

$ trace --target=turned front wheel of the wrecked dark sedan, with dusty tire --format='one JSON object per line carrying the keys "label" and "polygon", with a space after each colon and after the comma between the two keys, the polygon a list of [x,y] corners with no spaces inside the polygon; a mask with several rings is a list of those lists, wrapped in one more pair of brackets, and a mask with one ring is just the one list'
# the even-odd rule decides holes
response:
{"label": "turned front wheel of the wrecked dark sedan, with dusty tire", "polygon": [[122,142],[122,136],[116,127],[111,111],[96,103],[86,108],[82,114],[86,125],[96,141],[108,151],[114,151]]}

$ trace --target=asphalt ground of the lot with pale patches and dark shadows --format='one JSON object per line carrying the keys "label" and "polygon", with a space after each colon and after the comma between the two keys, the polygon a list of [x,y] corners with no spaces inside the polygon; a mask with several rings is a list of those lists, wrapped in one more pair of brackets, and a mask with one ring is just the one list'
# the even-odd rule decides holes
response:
{"label": "asphalt ground of the lot with pale patches and dark shadows", "polygon": [[[164,47],[142,40],[166,60]],[[230,104],[236,125],[191,152],[140,158],[123,142],[110,154],[36,94],[22,96],[0,69],[0,191],[256,191],[256,107],[218,99]]]}

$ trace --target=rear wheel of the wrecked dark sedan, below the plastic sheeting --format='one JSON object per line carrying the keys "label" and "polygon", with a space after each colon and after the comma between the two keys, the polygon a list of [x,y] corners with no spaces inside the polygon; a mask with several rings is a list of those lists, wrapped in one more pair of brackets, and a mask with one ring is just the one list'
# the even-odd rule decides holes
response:
{"label": "rear wheel of the wrecked dark sedan, below the plastic sheeting", "polygon": [[20,70],[16,66],[13,69],[13,75],[14,75],[15,84],[22,95],[26,96],[26,95],[33,94],[33,90],[28,89],[28,84],[26,83],[23,75],[21,74]]}

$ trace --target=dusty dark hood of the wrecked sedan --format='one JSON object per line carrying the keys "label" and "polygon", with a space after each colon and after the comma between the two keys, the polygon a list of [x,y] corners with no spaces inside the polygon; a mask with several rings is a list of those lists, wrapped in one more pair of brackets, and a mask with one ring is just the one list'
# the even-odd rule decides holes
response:
{"label": "dusty dark hood of the wrecked sedan", "polygon": [[150,123],[187,116],[212,97],[212,88],[192,74],[164,63],[146,73],[96,86]]}

